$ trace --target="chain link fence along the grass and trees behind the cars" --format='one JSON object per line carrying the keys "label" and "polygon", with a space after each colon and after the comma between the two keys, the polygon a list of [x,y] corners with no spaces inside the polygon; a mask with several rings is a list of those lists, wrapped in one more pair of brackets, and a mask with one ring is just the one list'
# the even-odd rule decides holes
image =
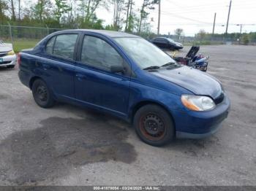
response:
{"label": "chain link fence along the grass and trees behind the cars", "polygon": [[[44,38],[48,34],[56,31],[64,30],[64,28],[48,28],[44,27],[32,27],[32,26],[10,26],[0,25],[0,39],[4,42],[10,42],[13,44],[15,52],[20,50],[34,47],[40,39]],[[180,36],[177,38],[175,35],[166,35],[176,42],[181,42],[184,45],[208,45],[208,44],[239,44],[238,37],[241,34],[236,34],[233,38],[223,38],[223,36],[211,36],[206,35],[203,38],[199,36]],[[145,39],[152,39],[156,34],[140,34]],[[256,44],[256,40],[250,44]]]}

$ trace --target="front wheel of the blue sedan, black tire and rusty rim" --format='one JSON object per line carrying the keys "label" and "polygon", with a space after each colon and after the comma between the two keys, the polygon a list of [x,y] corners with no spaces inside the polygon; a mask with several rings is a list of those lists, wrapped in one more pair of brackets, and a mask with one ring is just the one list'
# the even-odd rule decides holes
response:
{"label": "front wheel of the blue sedan, black tire and rusty rim", "polygon": [[133,124],[140,139],[152,146],[165,145],[175,136],[173,120],[161,106],[142,106],[136,112]]}

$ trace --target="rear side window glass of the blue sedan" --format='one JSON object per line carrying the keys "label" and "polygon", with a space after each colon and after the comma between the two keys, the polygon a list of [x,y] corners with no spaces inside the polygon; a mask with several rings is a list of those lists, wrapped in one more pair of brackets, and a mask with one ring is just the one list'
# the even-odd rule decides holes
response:
{"label": "rear side window glass of the blue sedan", "polygon": [[[56,41],[53,47],[53,55],[58,55],[63,58],[74,58],[75,42],[78,38],[78,34],[61,34],[56,37]],[[46,52],[50,53],[50,43],[46,46]]]}

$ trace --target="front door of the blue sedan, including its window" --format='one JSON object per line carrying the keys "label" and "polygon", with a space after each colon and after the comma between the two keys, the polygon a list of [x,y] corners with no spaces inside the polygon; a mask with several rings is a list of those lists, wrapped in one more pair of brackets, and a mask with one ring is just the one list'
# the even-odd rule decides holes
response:
{"label": "front door of the blue sedan, including its window", "polygon": [[[130,68],[106,39],[83,36],[80,58],[75,68],[75,96],[85,104],[126,115],[129,104]],[[126,72],[113,73],[110,66],[123,66]]]}

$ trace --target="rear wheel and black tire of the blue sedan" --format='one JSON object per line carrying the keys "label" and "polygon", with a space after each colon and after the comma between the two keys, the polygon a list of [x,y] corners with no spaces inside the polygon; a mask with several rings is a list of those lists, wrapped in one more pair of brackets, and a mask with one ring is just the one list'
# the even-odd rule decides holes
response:
{"label": "rear wheel and black tire of the blue sedan", "polygon": [[36,79],[32,85],[34,101],[43,108],[50,108],[54,105],[53,95],[42,79]]}

